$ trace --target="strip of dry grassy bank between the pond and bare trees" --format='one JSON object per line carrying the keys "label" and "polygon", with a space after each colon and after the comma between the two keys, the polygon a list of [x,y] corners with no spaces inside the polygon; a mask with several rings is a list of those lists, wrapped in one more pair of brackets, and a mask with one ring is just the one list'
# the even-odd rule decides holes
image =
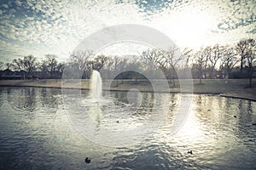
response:
{"label": "strip of dry grassy bank between the pond and bare trees", "polygon": [[[256,84],[253,82],[253,88],[247,88],[247,79],[203,79],[201,84],[197,79],[181,80],[182,83],[180,83],[179,80],[175,80],[175,86],[173,86],[172,80],[169,80],[169,88],[162,88],[163,81],[160,80],[153,80],[152,83],[143,80],[118,80],[118,86],[116,81],[117,80],[103,81],[103,90],[129,91],[138,89],[143,92],[221,94],[227,97],[252,99],[256,101]],[[0,86],[89,89],[90,80],[1,80]]]}

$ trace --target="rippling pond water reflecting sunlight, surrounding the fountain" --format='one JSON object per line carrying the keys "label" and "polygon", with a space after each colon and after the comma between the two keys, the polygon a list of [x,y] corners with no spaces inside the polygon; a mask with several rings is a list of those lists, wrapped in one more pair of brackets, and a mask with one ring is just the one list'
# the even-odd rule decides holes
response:
{"label": "rippling pond water reflecting sunlight, surrounding the fountain", "polygon": [[[171,134],[181,94],[142,93],[136,100],[126,94],[111,92],[111,103],[88,105],[87,91],[63,99],[61,89],[1,88],[0,169],[256,168],[255,102],[186,94],[192,97],[191,110]],[[168,111],[154,122],[152,101],[160,107],[166,98]],[[137,140],[122,143],[130,137]],[[109,146],[111,141],[116,146]]]}

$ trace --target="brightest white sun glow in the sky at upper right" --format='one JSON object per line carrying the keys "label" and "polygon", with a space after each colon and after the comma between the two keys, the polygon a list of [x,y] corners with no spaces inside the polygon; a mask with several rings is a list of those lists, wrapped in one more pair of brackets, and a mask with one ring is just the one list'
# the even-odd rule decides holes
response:
{"label": "brightest white sun glow in the sky at upper right", "polygon": [[180,47],[201,48],[212,39],[212,27],[216,26],[215,16],[200,8],[186,8],[175,14],[164,14],[156,25]]}

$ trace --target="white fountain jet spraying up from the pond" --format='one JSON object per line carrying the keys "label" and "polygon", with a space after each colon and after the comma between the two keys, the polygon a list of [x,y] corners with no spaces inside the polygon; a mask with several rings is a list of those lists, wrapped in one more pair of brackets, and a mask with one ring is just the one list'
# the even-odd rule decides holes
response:
{"label": "white fountain jet spraying up from the pond", "polygon": [[90,76],[90,99],[96,102],[102,99],[102,77],[99,71],[92,71]]}

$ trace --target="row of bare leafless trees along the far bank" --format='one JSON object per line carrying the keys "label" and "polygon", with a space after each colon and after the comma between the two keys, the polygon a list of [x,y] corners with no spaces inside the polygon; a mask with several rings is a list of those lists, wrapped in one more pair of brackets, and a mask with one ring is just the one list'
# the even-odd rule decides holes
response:
{"label": "row of bare leafless trees along the far bank", "polygon": [[[139,56],[95,57],[92,50],[76,51],[67,62],[58,61],[55,54],[47,54],[38,60],[33,55],[14,59],[10,63],[0,62],[0,69],[23,73],[24,78],[61,78],[64,68],[70,78],[90,78],[90,71],[102,71],[102,77],[112,77],[121,72],[116,79],[145,78],[136,71],[156,74],[162,71],[167,79],[186,78],[186,71],[191,71],[195,79],[213,78],[248,78],[252,86],[253,72],[256,65],[256,42],[253,38],[242,39],[235,45],[213,45],[199,50],[185,48],[179,53],[177,48],[166,50],[148,48]],[[125,71],[125,70],[131,71]],[[132,71],[133,70],[133,71]],[[125,71],[125,72],[123,72]],[[174,82],[174,81],[173,81]]]}

